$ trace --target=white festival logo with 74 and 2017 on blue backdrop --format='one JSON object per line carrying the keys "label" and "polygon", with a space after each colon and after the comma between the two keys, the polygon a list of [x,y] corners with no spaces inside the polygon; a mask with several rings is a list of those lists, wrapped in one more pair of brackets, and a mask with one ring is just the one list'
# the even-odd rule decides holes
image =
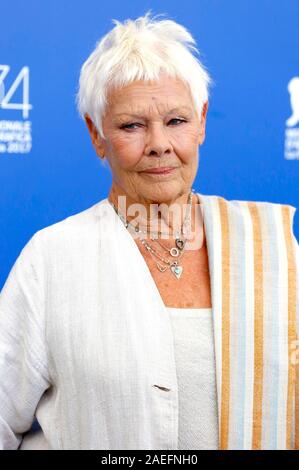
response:
{"label": "white festival logo with 74 and 2017 on blue backdrop", "polygon": [[[0,154],[29,153],[32,148],[29,67],[23,67],[16,78],[12,78],[12,83],[6,86],[8,81],[11,82],[11,75],[14,74],[9,65],[0,65]],[[20,102],[14,100],[17,94],[21,95]],[[12,110],[20,112],[19,119],[6,119]]]}

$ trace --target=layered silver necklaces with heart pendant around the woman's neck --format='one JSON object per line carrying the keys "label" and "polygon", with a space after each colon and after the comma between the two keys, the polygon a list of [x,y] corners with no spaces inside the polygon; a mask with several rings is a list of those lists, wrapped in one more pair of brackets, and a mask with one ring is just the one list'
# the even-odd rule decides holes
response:
{"label": "layered silver necklaces with heart pendant around the woman's neck", "polygon": [[[174,274],[176,279],[179,279],[183,273],[183,267],[179,265],[180,258],[182,257],[182,254],[184,253],[185,245],[186,245],[186,233],[190,233],[190,227],[191,227],[191,208],[192,208],[192,196],[194,193],[194,189],[190,191],[188,195],[188,207],[186,211],[186,215],[183,221],[183,224],[181,226],[180,232],[176,232],[175,236],[175,247],[172,248],[167,248],[165,247],[159,240],[158,236],[152,237],[150,235],[150,239],[153,240],[154,242],[158,243],[164,250],[166,250],[172,258],[176,258],[175,260],[171,260],[168,258],[164,258],[157,250],[155,250],[149,243],[146,241],[144,238],[141,239],[142,245],[146,248],[146,250],[151,254],[151,256],[154,258],[158,258],[160,261],[162,261],[165,264],[162,264],[160,261],[156,261],[156,267],[160,272],[165,272],[167,269],[170,269],[171,272]],[[109,199],[108,199],[109,201]],[[130,222],[128,222],[125,217],[118,212],[117,208],[115,205],[109,201],[109,203],[112,205],[113,209],[115,210],[116,214],[119,216],[123,224],[127,229],[131,228],[137,233],[144,233],[148,235],[149,230],[141,230],[139,227],[134,226]],[[153,233],[153,232],[151,232]],[[162,234],[162,232],[157,231],[154,232],[156,234]]]}

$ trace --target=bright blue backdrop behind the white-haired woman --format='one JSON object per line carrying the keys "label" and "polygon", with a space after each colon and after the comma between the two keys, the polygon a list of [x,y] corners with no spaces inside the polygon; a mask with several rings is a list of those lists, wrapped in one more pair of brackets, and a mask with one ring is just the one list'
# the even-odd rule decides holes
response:
{"label": "bright blue backdrop behind the white-haired woman", "polygon": [[80,67],[112,18],[148,9],[191,31],[215,81],[194,188],[298,207],[298,0],[3,2],[0,289],[34,232],[107,196],[110,171],[75,108]]}

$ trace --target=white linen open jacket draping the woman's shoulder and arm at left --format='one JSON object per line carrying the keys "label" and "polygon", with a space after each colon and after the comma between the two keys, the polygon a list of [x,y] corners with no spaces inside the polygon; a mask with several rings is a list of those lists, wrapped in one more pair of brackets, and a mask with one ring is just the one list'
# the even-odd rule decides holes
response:
{"label": "white linen open jacket draping the woman's shoulder and arm at left", "polygon": [[178,400],[167,308],[107,199],[36,232],[0,293],[0,449],[175,450]]}

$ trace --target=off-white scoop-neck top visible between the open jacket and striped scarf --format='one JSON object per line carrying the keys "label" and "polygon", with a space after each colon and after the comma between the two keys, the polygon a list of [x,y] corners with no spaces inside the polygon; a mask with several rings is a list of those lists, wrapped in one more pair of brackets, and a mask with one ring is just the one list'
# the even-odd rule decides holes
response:
{"label": "off-white scoop-neck top visible between the open jacket and striped scarf", "polygon": [[217,450],[218,420],[210,308],[168,308],[179,390],[178,449]]}

